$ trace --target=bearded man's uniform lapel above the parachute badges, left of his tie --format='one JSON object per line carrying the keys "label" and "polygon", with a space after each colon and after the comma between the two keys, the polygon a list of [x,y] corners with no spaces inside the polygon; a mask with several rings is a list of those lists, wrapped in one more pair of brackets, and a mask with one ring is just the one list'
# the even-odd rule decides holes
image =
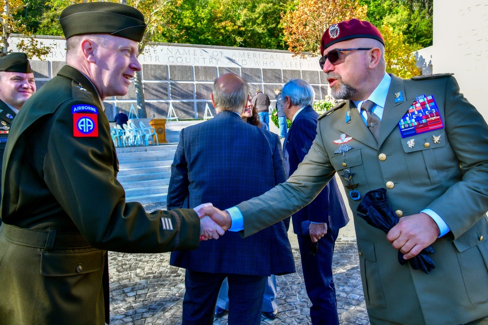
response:
{"label": "bearded man's uniform lapel above the parachute badges, left of his tie", "polygon": [[343,116],[343,121],[346,122],[347,120],[347,112],[349,112],[351,118],[345,124],[339,124],[337,129],[347,134],[348,136],[351,136],[354,140],[364,143],[368,147],[374,149],[378,148],[376,139],[374,138],[373,134],[369,132],[365,122],[363,121],[363,118],[359,114],[359,111],[354,103],[348,100],[345,108],[346,110],[341,109],[342,112],[345,112],[345,115]]}

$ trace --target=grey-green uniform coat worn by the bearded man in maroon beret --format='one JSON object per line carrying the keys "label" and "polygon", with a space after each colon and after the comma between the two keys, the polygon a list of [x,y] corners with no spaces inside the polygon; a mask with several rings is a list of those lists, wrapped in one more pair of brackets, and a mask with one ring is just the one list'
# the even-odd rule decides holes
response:
{"label": "grey-green uniform coat worn by the bearded man in maroon beret", "polygon": [[[395,93],[404,100],[395,103]],[[444,128],[402,138],[398,122],[417,96],[433,95]],[[350,118],[349,118],[350,116]],[[488,316],[488,127],[459,93],[453,77],[403,80],[392,76],[380,140],[347,101],[319,117],[317,136],[286,183],[238,205],[244,236],[274,224],[310,202],[333,176],[349,169],[356,190],[387,188],[393,210],[437,212],[451,232],[437,239],[429,274],[400,265],[386,234],[354,215],[361,277],[371,324],[455,325]],[[336,153],[341,134],[352,137]],[[433,136],[440,136],[434,143]],[[407,141],[414,138],[415,146]],[[427,144],[428,143],[428,144]],[[380,154],[384,154],[385,156]],[[386,158],[386,159],[384,159]],[[346,188],[346,193],[350,190]],[[349,198],[356,214],[361,200]]]}

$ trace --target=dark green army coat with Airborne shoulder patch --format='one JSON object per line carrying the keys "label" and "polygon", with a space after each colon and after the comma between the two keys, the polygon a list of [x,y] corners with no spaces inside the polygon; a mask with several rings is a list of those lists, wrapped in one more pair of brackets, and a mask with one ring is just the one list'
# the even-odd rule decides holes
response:
{"label": "dark green army coat with Airborne shoulder patch", "polygon": [[[99,98],[91,82],[66,65],[12,124],[0,208],[1,324],[108,323],[106,250],[199,246],[195,211],[149,214],[125,202]],[[90,116],[98,136],[74,136],[76,105],[95,108],[98,115]]]}

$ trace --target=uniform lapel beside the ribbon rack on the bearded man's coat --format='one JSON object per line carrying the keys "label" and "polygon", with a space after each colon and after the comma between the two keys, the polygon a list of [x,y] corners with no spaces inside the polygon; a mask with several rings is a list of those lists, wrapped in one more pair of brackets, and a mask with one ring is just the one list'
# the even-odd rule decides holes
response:
{"label": "uniform lapel beside the ribbon rack on the bearded man's coat", "polygon": [[[398,122],[407,113],[407,110],[413,103],[411,98],[405,92],[404,80],[397,77],[391,76],[390,88],[388,89],[388,95],[386,96],[385,109],[383,111],[383,116],[381,118],[381,128],[379,135],[380,146],[386,139],[386,137],[398,127]],[[395,93],[402,92],[404,100],[395,103]]]}

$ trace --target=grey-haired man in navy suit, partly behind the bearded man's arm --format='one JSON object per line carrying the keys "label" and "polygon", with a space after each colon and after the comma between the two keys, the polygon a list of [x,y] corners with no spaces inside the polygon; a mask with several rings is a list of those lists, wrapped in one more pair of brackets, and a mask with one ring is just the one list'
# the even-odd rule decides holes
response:
{"label": "grey-haired man in navy suit, partly behind the bearded man's arm", "polygon": [[[291,175],[312,146],[319,115],[311,106],[315,92],[305,80],[291,79],[283,87],[282,95],[285,115],[292,121],[283,144],[285,165]],[[335,179],[308,206],[293,214],[292,221],[305,287],[312,303],[312,324],[338,325],[332,253],[339,229],[346,226],[349,218]]]}

